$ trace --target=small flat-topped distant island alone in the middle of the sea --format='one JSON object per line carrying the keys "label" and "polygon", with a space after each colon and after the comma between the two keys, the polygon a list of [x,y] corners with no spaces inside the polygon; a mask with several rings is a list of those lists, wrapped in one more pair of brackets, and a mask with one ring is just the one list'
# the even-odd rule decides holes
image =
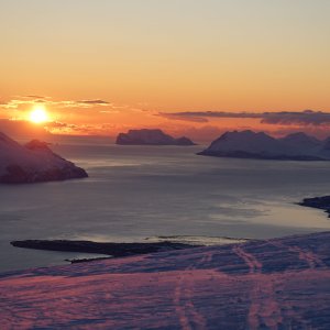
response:
{"label": "small flat-topped distant island alone in the middle of the sea", "polygon": [[195,145],[186,138],[175,139],[165,134],[162,130],[130,130],[128,133],[120,133],[116,141],[122,145]]}

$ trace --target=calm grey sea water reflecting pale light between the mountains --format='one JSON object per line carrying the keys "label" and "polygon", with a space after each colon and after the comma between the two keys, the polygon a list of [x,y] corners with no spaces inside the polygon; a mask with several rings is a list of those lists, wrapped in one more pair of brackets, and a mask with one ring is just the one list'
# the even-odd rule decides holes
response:
{"label": "calm grey sea water reflecting pale light between the mountains", "polygon": [[304,197],[330,194],[329,163],[195,155],[201,148],[53,146],[86,168],[90,177],[0,186],[0,271],[88,256],[12,248],[12,240],[263,239],[330,230],[322,211],[295,205]]}

